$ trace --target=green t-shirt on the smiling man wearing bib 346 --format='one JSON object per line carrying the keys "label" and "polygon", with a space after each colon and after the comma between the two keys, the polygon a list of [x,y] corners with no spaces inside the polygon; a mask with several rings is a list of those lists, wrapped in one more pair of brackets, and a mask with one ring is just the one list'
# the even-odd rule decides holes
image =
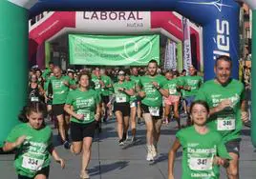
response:
{"label": "green t-shirt on the smiling man wearing bib 346", "polygon": [[223,87],[214,80],[210,80],[203,84],[196,96],[196,100],[206,101],[210,109],[218,106],[224,99],[231,100],[232,107],[211,115],[208,126],[220,131],[224,142],[227,142],[240,138],[240,131],[243,127],[241,100],[245,99],[244,85],[232,79],[227,86]]}

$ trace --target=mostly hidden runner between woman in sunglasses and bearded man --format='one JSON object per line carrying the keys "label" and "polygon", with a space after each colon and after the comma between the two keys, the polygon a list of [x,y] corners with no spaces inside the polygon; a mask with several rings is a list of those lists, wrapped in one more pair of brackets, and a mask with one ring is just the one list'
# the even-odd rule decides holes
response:
{"label": "mostly hidden runner between woman in sunglasses and bearded man", "polygon": [[[131,80],[135,81],[136,84],[138,84],[139,83],[139,78],[140,78],[138,68],[137,67],[132,67],[130,72],[131,72]],[[139,100],[139,98],[137,96],[138,124],[140,124],[143,120],[140,105],[141,105],[141,101]]]}

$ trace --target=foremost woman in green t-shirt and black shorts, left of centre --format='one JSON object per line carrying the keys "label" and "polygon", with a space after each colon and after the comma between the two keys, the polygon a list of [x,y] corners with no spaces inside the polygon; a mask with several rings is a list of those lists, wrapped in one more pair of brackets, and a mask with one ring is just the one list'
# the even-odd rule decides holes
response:
{"label": "foremost woman in green t-shirt and black shorts, left of centre", "polygon": [[79,88],[69,92],[64,107],[65,111],[72,115],[71,151],[75,154],[83,151],[80,178],[89,178],[87,168],[91,157],[96,121],[100,117],[100,96],[94,89],[90,89],[90,78],[88,71],[83,71],[78,75]]}

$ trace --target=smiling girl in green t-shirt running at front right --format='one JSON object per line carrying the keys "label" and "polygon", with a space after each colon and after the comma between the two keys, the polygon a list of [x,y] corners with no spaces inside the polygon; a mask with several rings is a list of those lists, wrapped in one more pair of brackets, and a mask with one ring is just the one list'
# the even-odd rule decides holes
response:
{"label": "smiling girl in green t-shirt running at front right", "polygon": [[182,179],[219,179],[219,165],[227,166],[232,159],[224,147],[222,135],[206,126],[210,109],[206,102],[191,104],[194,125],[181,129],[169,151],[168,179],[174,179],[174,163],[177,150],[182,147]]}

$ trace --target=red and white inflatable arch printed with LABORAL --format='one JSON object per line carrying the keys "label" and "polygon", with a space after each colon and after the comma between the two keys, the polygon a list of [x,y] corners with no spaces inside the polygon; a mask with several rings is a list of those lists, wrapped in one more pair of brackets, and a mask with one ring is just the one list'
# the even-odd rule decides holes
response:
{"label": "red and white inflatable arch printed with LABORAL", "polygon": [[[161,33],[176,43],[183,40],[182,16],[172,11],[49,11],[34,24],[29,23],[30,65],[45,68],[44,45],[63,34],[148,34]],[[194,57],[203,70],[202,28],[188,23]],[[36,56],[36,58],[35,58]]]}

